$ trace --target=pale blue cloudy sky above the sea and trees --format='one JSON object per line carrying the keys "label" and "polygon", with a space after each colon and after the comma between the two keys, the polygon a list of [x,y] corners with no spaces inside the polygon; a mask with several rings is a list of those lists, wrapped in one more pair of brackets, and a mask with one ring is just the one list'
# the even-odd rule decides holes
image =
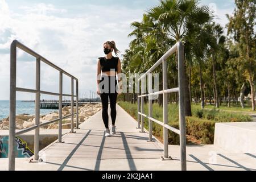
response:
{"label": "pale blue cloudy sky above the sea and trees", "polygon": [[[130,23],[158,0],[0,0],[0,100],[10,98],[10,44],[18,40],[79,79],[79,97],[96,92],[98,57],[102,44],[114,40],[122,53],[129,47]],[[233,0],[203,0],[214,10],[217,23],[228,23]],[[59,92],[59,72],[41,62],[41,90]],[[16,86],[35,89],[35,58],[18,49]],[[75,84],[76,85],[76,84]],[[63,93],[71,94],[71,78],[63,77]],[[57,100],[42,95],[41,99]],[[17,100],[34,100],[34,94],[16,93]],[[69,99],[64,98],[64,99]]]}

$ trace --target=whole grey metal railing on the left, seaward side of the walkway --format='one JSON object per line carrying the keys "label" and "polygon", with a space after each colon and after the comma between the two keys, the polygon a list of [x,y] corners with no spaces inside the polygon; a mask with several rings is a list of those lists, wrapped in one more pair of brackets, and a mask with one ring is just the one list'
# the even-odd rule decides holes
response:
{"label": "whole grey metal railing on the left, seaward side of the walkway", "polygon": [[[36,89],[25,89],[16,87],[16,48],[22,49],[24,52],[27,52],[31,56],[36,58]],[[49,125],[51,123],[59,121],[59,135],[58,141],[61,141],[61,132],[62,132],[62,120],[68,117],[71,117],[71,133],[74,133],[74,115],[76,114],[76,128],[79,129],[79,81],[76,77],[65,72],[63,69],[52,64],[50,61],[45,59],[43,56],[40,56],[38,53],[32,51],[30,48],[24,46],[22,43],[19,43],[17,40],[14,40],[11,43],[11,66],[10,66],[10,117],[9,117],[9,170],[15,170],[15,136],[27,133],[28,131],[35,130],[35,140],[34,140],[34,160],[39,159],[39,133],[40,127]],[[59,71],[59,93],[52,93],[40,90],[40,63],[43,61],[47,65],[55,68]],[[63,74],[71,77],[71,94],[63,94]],[[74,96],[74,80],[76,80],[76,96]],[[32,126],[28,129],[15,131],[15,120],[16,120],[16,92],[28,92],[35,93],[35,126]],[[47,94],[52,96],[59,96],[59,118],[54,119],[53,121],[40,123],[40,94]],[[62,115],[62,100],[63,96],[71,97],[71,113],[65,117]],[[74,113],[74,97],[76,97],[76,113]]]}

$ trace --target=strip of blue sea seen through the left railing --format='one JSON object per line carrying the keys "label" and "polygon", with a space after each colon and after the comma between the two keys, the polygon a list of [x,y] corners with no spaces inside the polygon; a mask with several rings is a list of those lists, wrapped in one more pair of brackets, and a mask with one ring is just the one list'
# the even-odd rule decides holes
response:
{"label": "strip of blue sea seen through the left railing", "polygon": [[[40,115],[46,115],[54,111],[59,111],[57,109],[40,109]],[[9,117],[10,112],[10,101],[0,101],[0,119]],[[16,115],[18,114],[29,114],[35,115],[35,102],[24,102],[16,101]]]}

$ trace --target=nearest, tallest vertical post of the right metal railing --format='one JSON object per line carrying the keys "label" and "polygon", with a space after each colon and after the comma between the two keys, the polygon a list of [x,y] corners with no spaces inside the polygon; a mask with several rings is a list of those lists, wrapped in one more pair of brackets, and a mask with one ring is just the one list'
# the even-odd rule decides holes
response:
{"label": "nearest, tallest vertical post of the right metal railing", "polygon": [[186,159],[186,123],[185,123],[185,95],[184,95],[184,47],[181,42],[177,44],[178,70],[179,70],[179,122],[180,122],[180,158],[181,170],[187,170]]}

